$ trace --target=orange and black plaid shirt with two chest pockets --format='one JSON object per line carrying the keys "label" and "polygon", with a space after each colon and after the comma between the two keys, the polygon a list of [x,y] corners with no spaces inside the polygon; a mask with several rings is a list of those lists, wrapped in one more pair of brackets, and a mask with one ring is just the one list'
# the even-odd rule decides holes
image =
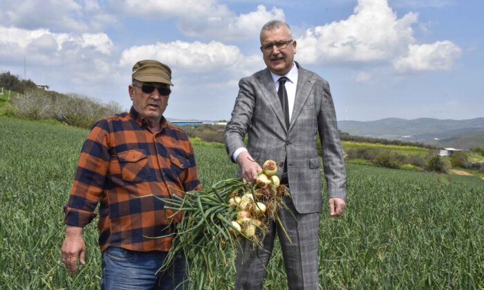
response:
{"label": "orange and black plaid shirt with two chest pockets", "polygon": [[[65,222],[85,226],[100,204],[99,244],[133,251],[168,251],[171,210],[156,197],[201,189],[194,151],[179,128],[160,122],[156,134],[134,108],[97,122],[82,146]],[[180,215],[177,215],[177,218]]]}

